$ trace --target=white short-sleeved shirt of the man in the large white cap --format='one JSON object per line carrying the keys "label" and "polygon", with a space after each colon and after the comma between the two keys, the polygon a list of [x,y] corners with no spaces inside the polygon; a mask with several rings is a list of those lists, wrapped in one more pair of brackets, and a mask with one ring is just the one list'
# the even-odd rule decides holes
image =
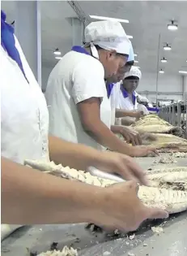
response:
{"label": "white short-sleeved shirt of the man in the large white cap", "polygon": [[[53,68],[45,97],[49,107],[49,132],[66,141],[101,149],[83,130],[76,104],[101,98],[100,119],[110,128],[111,108],[104,83],[104,67],[90,55],[70,51]],[[90,113],[91,115],[91,113]]]}

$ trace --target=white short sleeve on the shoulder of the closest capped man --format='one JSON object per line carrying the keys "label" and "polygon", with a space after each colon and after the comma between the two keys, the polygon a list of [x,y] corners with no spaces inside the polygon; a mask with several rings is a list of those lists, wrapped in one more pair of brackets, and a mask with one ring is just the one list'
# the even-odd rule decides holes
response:
{"label": "white short sleeve on the shoulder of the closest capped man", "polygon": [[95,60],[94,62],[81,62],[74,69],[72,83],[72,96],[75,104],[92,97],[102,99],[106,93],[104,67]]}

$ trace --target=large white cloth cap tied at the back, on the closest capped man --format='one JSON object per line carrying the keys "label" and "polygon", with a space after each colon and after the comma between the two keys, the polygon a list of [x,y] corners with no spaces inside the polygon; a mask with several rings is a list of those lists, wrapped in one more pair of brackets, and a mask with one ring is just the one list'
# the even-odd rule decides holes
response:
{"label": "large white cloth cap tied at the back, on the closest capped man", "polygon": [[92,54],[97,59],[99,59],[99,56],[98,54],[96,55],[95,46],[100,46],[104,50],[116,50],[118,54],[130,54],[130,40],[121,24],[117,21],[91,22],[85,28],[84,35],[85,42],[92,46]]}

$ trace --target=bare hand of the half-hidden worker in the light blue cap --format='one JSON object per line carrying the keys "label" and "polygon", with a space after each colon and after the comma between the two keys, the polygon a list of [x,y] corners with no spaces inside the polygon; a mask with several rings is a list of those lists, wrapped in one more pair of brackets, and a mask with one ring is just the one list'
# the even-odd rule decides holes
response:
{"label": "bare hand of the half-hidden worker in the light blue cap", "polygon": [[120,133],[127,143],[131,143],[132,145],[142,145],[142,139],[138,132],[126,127],[121,127]]}

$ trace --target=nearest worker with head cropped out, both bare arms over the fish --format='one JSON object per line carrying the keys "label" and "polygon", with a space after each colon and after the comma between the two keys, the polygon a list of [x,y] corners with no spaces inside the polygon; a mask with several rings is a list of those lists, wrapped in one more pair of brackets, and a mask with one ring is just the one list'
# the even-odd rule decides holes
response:
{"label": "nearest worker with head cropped out, both bare arms over the fish", "polygon": [[144,219],[167,216],[163,210],[142,205],[133,181],[102,189],[23,166],[25,158],[49,161],[50,156],[55,163],[76,169],[92,165],[105,171],[121,170],[130,180],[135,173],[145,179],[130,157],[49,136],[45,97],[3,12],[1,36],[2,223],[91,221],[132,230]]}

